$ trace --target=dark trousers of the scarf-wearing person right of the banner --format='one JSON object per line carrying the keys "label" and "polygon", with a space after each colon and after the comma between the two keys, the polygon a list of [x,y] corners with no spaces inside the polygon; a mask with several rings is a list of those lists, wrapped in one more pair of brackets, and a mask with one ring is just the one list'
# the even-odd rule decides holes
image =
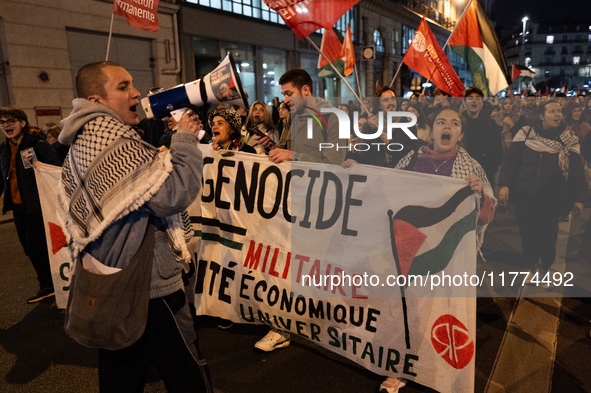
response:
{"label": "dark trousers of the scarf-wearing person right of the banner", "polygon": [[515,204],[515,218],[521,233],[523,260],[528,266],[538,262],[547,270],[556,259],[560,206],[542,198]]}

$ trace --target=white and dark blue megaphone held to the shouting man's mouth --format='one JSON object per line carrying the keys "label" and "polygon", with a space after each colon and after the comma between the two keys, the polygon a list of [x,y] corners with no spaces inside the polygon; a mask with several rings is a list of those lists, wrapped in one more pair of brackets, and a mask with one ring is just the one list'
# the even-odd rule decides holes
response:
{"label": "white and dark blue megaphone held to the shouting man's mouth", "polygon": [[171,112],[188,105],[199,107],[214,102],[231,102],[249,107],[229,52],[224,61],[202,79],[160,91],[141,100],[146,116],[158,119],[168,117]]}

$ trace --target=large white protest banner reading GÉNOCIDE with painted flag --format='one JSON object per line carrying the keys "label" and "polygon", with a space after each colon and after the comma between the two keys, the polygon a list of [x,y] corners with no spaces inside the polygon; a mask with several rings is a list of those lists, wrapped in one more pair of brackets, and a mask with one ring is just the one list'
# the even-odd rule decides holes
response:
{"label": "large white protest banner reading G\u00c9NOCIDE with painted flag", "polygon": [[465,181],[202,151],[198,314],[290,331],[380,375],[473,391],[478,208]]}

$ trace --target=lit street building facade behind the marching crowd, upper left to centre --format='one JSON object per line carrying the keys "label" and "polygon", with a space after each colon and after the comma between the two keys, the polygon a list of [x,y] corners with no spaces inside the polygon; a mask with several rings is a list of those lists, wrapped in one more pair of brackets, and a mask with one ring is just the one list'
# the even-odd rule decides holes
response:
{"label": "lit street building facade behind the marching crowd, upper left to centre", "polygon": [[[335,26],[344,35],[350,24],[353,32],[357,73],[347,78],[350,85],[372,95],[390,84],[423,15],[443,45],[464,6],[465,0],[361,0]],[[108,59],[130,71],[142,95],[198,79],[229,52],[251,102],[281,99],[278,79],[293,67],[313,76],[316,95],[353,97],[340,80],[317,77],[317,51],[262,0],[160,0],[154,33],[112,17],[112,8],[113,0],[0,0],[0,106],[23,108],[40,127],[67,117],[76,71],[104,60],[109,42]],[[311,39],[319,46],[321,32]],[[362,58],[364,47],[374,49],[372,59]],[[446,52],[460,77],[469,77],[463,61]],[[403,66],[396,91],[408,91],[413,76]]]}

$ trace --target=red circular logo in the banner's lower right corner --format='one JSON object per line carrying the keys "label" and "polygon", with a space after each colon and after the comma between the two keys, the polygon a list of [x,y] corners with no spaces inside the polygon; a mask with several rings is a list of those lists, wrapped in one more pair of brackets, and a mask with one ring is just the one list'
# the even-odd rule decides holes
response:
{"label": "red circular logo in the banner's lower right corner", "polygon": [[431,343],[439,356],[456,369],[466,367],[474,357],[474,340],[453,315],[437,318],[431,328]]}

